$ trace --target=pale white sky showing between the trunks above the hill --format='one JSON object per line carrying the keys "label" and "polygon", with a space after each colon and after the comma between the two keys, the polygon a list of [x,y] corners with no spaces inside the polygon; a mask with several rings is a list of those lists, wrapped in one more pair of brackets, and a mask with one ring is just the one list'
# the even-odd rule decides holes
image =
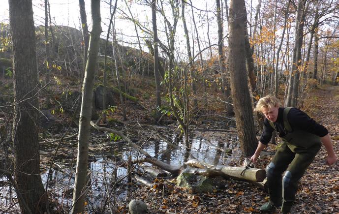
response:
{"label": "pale white sky showing between the trunks above the hill", "polygon": [[[9,22],[9,12],[8,12],[8,1],[7,0],[1,0],[4,3],[0,7],[0,22]],[[107,1],[107,0],[106,0]],[[113,4],[115,0],[112,0]],[[126,0],[127,2],[130,2],[131,0]],[[134,0],[133,2],[135,2]],[[224,2],[223,0],[220,0],[221,2]],[[63,26],[69,26],[76,28],[80,30],[80,14],[79,14],[79,1],[78,0],[49,0],[50,2],[50,7],[51,7],[51,17],[52,17],[52,22],[55,25],[63,25]],[[91,28],[91,5],[90,5],[90,0],[85,0],[86,3],[86,12],[87,12],[87,20],[89,23],[89,28]],[[140,0],[139,0],[140,2]],[[192,0],[193,5],[196,8],[199,8],[201,10],[208,10],[215,11],[215,0]],[[253,0],[255,2],[255,0]],[[39,25],[44,25],[44,0],[32,0],[33,4],[33,16],[34,16],[34,23],[36,26]],[[138,18],[143,24],[151,25],[151,19],[152,19],[152,13],[151,13],[151,7],[147,5],[136,5],[135,3],[132,4],[133,7],[131,7],[131,11],[133,13],[134,18]],[[253,5],[255,5],[253,3]],[[124,0],[118,0],[118,8],[121,8],[125,13],[129,15],[129,12],[126,8]],[[180,8],[181,10],[181,8]],[[207,25],[202,26],[201,20],[206,19],[206,12],[204,11],[198,11],[197,9],[195,10],[195,21],[198,27],[198,33],[199,37],[201,40],[207,41]],[[194,34],[190,34],[190,40],[191,40],[191,47],[194,47],[195,53],[197,53],[197,44],[193,42],[192,36],[196,36],[193,25],[191,24],[191,11],[190,11],[190,6],[186,6],[186,22],[187,22],[187,28],[188,31],[193,32]],[[116,31],[117,31],[117,39],[118,43],[121,44],[121,41],[130,41],[132,44],[124,44],[128,45],[131,47],[137,48],[136,43],[136,33],[134,29],[134,25],[130,21],[126,21],[122,19],[121,11],[117,11],[116,15]],[[180,11],[181,13],[181,11]],[[166,13],[168,17],[170,17],[171,12],[167,11]],[[159,14],[157,14],[159,16]],[[199,18],[201,17],[202,18]],[[215,19],[215,14],[213,12],[209,12],[208,16],[210,19],[214,18],[210,23],[210,39],[211,43],[215,44],[217,42],[217,26],[216,26],[216,19]],[[109,23],[109,18],[110,18],[110,12],[109,12],[109,5],[106,3],[104,0],[101,0],[101,19],[102,19],[102,24],[101,27],[103,29],[103,32],[101,34],[101,37],[106,37],[107,34],[107,24]],[[164,36],[163,31],[163,19],[160,17],[157,18],[157,26],[158,26],[158,34],[160,40],[164,41],[166,43],[166,38]],[[205,22],[206,23],[206,22]],[[149,26],[149,29],[152,29],[152,26]],[[227,28],[225,28],[225,31],[227,31]],[[227,33],[227,32],[225,32]],[[139,30],[139,35],[143,35],[143,32]],[[181,19],[178,22],[177,26],[177,33],[176,33],[176,47],[178,48],[178,53],[186,53],[185,50],[185,37],[184,37],[184,30],[183,30],[183,25]],[[120,41],[120,42],[119,42]],[[194,46],[192,45],[194,44]],[[202,49],[204,47],[208,46],[207,43],[202,43]],[[145,47],[145,46],[144,46]],[[147,48],[144,48],[144,51],[148,51]],[[205,55],[208,55],[208,51],[205,52]]]}

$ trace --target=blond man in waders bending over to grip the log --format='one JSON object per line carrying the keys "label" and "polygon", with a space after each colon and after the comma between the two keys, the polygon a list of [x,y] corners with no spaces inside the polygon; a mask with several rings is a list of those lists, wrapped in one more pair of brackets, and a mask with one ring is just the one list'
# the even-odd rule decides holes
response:
{"label": "blond man in waders bending over to grip the log", "polygon": [[[270,202],[260,211],[270,212],[281,206],[281,213],[287,214],[295,200],[299,180],[321,148],[321,142],[328,153],[326,161],[332,165],[337,161],[328,130],[297,108],[280,107],[280,101],[273,95],[258,100],[254,109],[264,116],[263,132],[258,147],[251,157],[256,162],[260,152],[269,143],[273,131],[279,132],[283,143],[266,167]],[[284,173],[281,179],[282,173]]]}

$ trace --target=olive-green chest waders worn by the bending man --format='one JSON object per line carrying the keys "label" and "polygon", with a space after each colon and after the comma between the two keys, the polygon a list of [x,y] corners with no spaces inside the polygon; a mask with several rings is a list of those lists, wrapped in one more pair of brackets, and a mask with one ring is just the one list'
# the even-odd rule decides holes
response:
{"label": "olive-green chest waders worn by the bending man", "polygon": [[[320,150],[320,137],[303,130],[292,129],[287,115],[291,108],[283,111],[284,141],[266,168],[267,184],[272,205],[281,206],[282,213],[288,213],[297,192],[298,182],[309,164]],[[273,122],[271,126],[276,129]],[[281,179],[282,173],[284,173]]]}

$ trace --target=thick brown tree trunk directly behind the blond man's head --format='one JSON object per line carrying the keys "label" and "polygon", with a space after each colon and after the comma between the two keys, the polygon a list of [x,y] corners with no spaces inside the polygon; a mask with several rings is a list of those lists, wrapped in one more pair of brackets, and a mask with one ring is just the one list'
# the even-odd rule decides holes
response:
{"label": "thick brown tree trunk directly behind the blond man's head", "polygon": [[[255,152],[255,137],[251,98],[247,86],[245,64],[244,0],[231,0],[229,12],[229,67],[236,124],[242,152],[249,156]],[[242,18],[239,18],[242,17]]]}

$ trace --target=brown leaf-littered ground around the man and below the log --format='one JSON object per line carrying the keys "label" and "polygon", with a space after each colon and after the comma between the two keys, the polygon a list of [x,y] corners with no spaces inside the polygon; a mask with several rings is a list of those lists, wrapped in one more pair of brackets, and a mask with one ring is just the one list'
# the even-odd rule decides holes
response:
{"label": "brown leaf-littered ground around the man and below the log", "polygon": [[[303,111],[316,122],[323,124],[332,136],[332,143],[339,155],[339,86],[323,86],[312,90],[304,102]],[[279,145],[269,144],[267,150],[275,152]],[[261,157],[256,168],[265,169],[273,155]],[[339,213],[339,162],[329,167],[326,150],[321,148],[308,171],[301,179],[292,214]],[[242,162],[235,163],[242,165]],[[269,201],[262,189],[246,182],[216,178],[217,188],[211,193],[187,192],[176,187],[176,181],[158,180],[153,188],[139,186],[130,192],[125,201],[118,202],[120,213],[128,213],[126,203],[131,199],[143,200],[149,213],[260,213],[262,204]],[[165,191],[162,190],[164,186]],[[279,210],[272,212],[279,214]]]}

